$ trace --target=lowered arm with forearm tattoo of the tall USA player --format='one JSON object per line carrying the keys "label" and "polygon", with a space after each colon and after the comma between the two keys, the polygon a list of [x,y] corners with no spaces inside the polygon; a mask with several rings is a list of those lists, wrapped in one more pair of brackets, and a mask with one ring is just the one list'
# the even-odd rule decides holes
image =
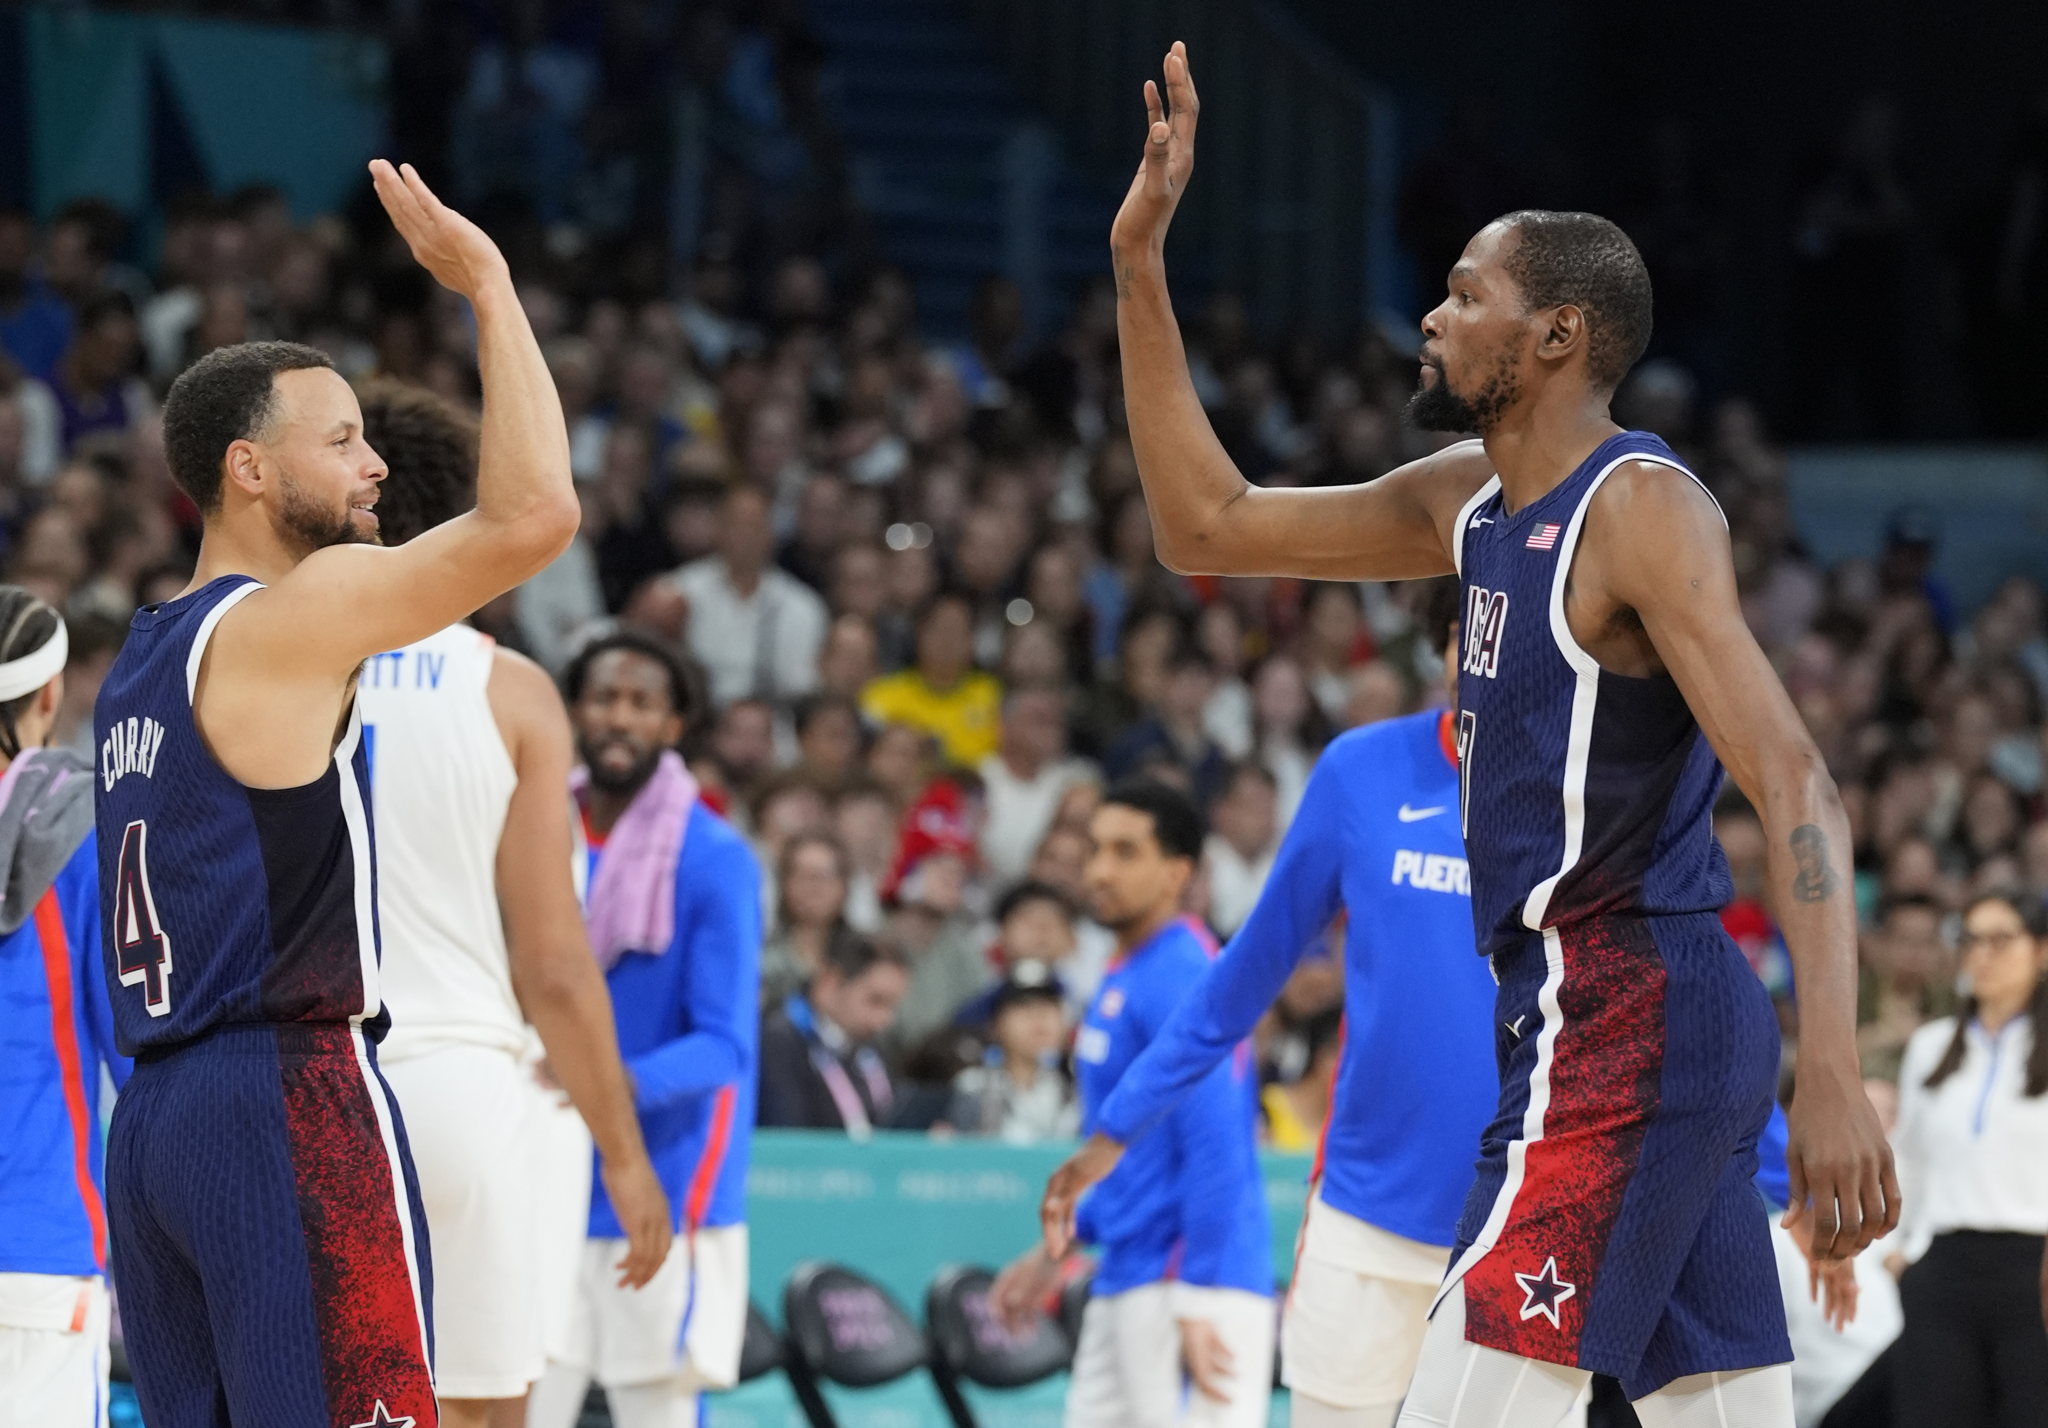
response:
{"label": "lowered arm with forearm tattoo of the tall USA player", "polygon": [[1786,1223],[1810,1215],[1815,1260],[1847,1258],[1898,1223],[1898,1180],[1855,1060],[1855,898],[1835,782],[1743,624],[1729,530],[1706,491],[1661,466],[1622,466],[1593,499],[1581,550],[1599,552],[1591,579],[1642,620],[1763,816],[1800,1000]]}

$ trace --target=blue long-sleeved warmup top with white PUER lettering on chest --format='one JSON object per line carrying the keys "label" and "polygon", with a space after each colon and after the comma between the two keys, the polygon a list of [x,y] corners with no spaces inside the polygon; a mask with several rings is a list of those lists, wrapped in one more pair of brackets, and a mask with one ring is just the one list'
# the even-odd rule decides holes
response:
{"label": "blue long-sleeved warmup top with white PUER lettering on chest", "polygon": [[1346,1031],[1321,1193],[1380,1230],[1450,1246],[1499,1074],[1493,976],[1473,953],[1458,769],[1434,710],[1331,741],[1251,917],[1122,1076],[1096,1129],[1135,1144],[1171,1115],[1339,910]]}

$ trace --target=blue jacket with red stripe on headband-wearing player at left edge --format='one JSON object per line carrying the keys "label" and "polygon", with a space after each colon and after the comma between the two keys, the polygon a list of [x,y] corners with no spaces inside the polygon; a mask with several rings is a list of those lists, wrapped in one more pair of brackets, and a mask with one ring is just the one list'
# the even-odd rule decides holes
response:
{"label": "blue jacket with red stripe on headband-wearing player at left edge", "polygon": [[100,1066],[115,1052],[100,972],[100,876],[92,833],[33,917],[0,937],[0,1273],[104,1275],[106,1172]]}

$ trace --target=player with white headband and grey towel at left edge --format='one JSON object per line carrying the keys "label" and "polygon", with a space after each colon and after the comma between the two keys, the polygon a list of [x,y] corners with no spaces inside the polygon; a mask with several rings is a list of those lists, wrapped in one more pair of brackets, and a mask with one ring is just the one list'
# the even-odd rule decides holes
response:
{"label": "player with white headband and grey towel at left edge", "polygon": [[0,1426],[106,1428],[106,1211],[92,765],[45,749],[63,702],[63,620],[0,585]]}

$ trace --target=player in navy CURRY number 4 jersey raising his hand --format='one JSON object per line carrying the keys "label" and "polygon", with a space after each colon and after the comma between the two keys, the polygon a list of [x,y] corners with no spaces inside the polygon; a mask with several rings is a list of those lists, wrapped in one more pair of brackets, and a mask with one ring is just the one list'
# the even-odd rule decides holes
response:
{"label": "player in navy CURRY number 4 jersey raising his hand", "polygon": [[426,1219],[377,1072],[377,867],[356,675],[575,534],[561,403],[498,248],[410,168],[377,194],[469,299],[477,507],[377,548],[383,460],[313,348],[219,348],[164,403],[205,518],[135,612],[94,739],[104,974],[135,1074],[106,1150],[150,1428],[430,1428]]}

